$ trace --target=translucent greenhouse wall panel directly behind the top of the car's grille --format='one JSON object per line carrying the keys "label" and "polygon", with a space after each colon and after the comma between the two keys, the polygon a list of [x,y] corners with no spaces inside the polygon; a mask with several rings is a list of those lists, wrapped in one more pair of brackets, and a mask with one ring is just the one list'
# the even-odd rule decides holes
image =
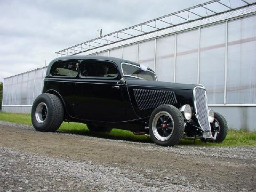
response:
{"label": "translucent greenhouse wall panel directly behind the top of the car's grille", "polygon": [[199,84],[205,86],[209,103],[224,102],[225,23],[200,31]]}

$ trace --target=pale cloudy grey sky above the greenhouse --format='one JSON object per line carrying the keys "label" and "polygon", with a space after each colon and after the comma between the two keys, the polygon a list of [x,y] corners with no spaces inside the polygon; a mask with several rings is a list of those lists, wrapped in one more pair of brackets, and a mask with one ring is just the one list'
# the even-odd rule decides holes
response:
{"label": "pale cloudy grey sky above the greenhouse", "polygon": [[0,81],[42,67],[62,50],[207,0],[0,0]]}

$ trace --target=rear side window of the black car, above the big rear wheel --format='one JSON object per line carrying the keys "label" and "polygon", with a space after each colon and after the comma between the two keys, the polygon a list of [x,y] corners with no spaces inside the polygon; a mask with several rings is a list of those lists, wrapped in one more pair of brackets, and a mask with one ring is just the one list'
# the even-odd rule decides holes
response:
{"label": "rear side window of the black car, above the big rear wheel", "polygon": [[78,61],[57,61],[52,65],[52,76],[76,77],[78,73]]}

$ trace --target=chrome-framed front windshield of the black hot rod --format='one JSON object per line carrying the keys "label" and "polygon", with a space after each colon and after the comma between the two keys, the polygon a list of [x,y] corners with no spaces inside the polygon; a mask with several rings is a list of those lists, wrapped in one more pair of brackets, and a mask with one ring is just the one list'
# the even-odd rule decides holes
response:
{"label": "chrome-framed front windshield of the black hot rod", "polygon": [[146,80],[156,81],[156,75],[150,70],[144,70],[140,66],[130,63],[122,63],[123,76],[132,76]]}

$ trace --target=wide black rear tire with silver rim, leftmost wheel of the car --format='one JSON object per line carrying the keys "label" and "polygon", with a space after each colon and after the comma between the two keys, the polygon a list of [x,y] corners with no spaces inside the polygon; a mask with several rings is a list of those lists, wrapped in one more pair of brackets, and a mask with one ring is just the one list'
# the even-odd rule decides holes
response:
{"label": "wide black rear tire with silver rim, leftmost wheel of the car", "polygon": [[31,121],[37,131],[57,131],[63,122],[63,117],[63,105],[56,95],[43,93],[34,101]]}

